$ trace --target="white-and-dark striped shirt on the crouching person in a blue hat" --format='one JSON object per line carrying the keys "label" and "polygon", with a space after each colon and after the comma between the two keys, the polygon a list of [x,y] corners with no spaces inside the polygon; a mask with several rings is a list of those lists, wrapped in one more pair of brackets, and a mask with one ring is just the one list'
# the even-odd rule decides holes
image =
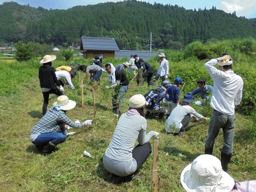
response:
{"label": "white-and-dark striped shirt on the crouching person in a blue hat", "polygon": [[165,122],[165,130],[167,132],[172,133],[172,128],[174,125],[176,126],[175,133],[180,132],[180,128],[182,127],[181,121],[184,119],[185,116],[188,114],[193,114],[198,118],[202,118],[202,115],[197,113],[191,106],[189,105],[180,105],[178,104],[171,112],[170,116]]}

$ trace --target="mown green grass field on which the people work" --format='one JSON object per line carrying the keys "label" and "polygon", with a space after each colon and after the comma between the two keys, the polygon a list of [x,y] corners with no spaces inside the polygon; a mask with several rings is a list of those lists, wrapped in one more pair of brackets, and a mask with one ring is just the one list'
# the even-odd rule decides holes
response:
{"label": "mown green grass field on which the people work", "polygon": [[[169,60],[171,61],[171,59]],[[87,63],[88,61],[84,61]],[[104,60],[114,65],[123,60]],[[157,68],[157,60],[150,60]],[[66,65],[66,62],[54,61],[54,67]],[[204,77],[212,84],[210,76],[204,69],[204,61],[185,60],[170,62],[170,81],[180,76],[186,85],[181,92],[182,98],[186,92],[196,88],[196,81]],[[72,120],[84,121],[93,119],[92,126],[75,131],[64,143],[59,144],[59,150],[49,156],[42,156],[30,142],[30,132],[42,117],[43,96],[39,86],[39,61],[27,63],[0,62],[0,189],[9,191],[150,191],[152,176],[152,154],[142,166],[139,174],[144,174],[144,180],[135,179],[129,183],[120,183],[107,172],[102,163],[102,156],[111,141],[117,124],[117,117],[111,112],[111,90],[106,90],[107,74],[103,73],[100,80],[99,92],[96,94],[96,118],[92,100],[92,84],[84,82],[84,108],[81,107],[80,82],[84,73],[78,72],[73,80],[76,90],[65,89],[70,99],[77,102],[76,108],[67,112]],[[252,66],[252,65],[251,65]],[[235,72],[243,74],[245,96],[255,91],[250,74],[244,71],[247,62],[241,62]],[[255,66],[250,72],[255,72]],[[252,75],[251,75],[252,76]],[[132,76],[129,74],[129,78]],[[152,87],[150,87],[152,88]],[[128,100],[134,94],[145,94],[150,89],[146,84],[129,86],[124,102],[124,111],[128,110]],[[49,106],[57,99],[51,95]],[[199,100],[196,97],[196,100]],[[49,107],[48,106],[48,107]],[[206,106],[194,106],[197,112],[210,117],[212,109]],[[236,135],[234,153],[229,165],[229,174],[236,181],[256,178],[255,152],[255,121],[252,116],[244,114],[241,108],[236,112]],[[164,131],[165,119],[148,119],[148,131],[160,132],[159,162],[158,162],[158,191],[184,192],[180,184],[180,173],[194,158],[204,153],[204,143],[207,137],[208,122],[190,122],[189,130],[184,136],[172,136]],[[153,140],[151,140],[153,145]],[[220,158],[223,144],[220,132],[214,146],[214,155]],[[82,156],[84,150],[93,158]],[[182,154],[183,156],[178,157]]]}

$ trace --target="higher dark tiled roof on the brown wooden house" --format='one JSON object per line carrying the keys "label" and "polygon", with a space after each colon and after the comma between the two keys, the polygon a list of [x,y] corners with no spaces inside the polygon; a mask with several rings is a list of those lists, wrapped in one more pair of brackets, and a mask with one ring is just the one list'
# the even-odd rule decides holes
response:
{"label": "higher dark tiled roof on the brown wooden house", "polygon": [[114,38],[82,37],[81,50],[119,50]]}

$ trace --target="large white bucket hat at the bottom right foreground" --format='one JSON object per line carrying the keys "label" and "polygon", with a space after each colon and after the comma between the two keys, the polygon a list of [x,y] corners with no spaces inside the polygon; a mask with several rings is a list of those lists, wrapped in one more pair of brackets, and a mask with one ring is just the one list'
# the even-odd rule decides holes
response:
{"label": "large white bucket hat at the bottom right foreground", "polygon": [[200,155],[184,168],[180,181],[187,192],[230,192],[234,179],[222,170],[220,160],[213,155]]}

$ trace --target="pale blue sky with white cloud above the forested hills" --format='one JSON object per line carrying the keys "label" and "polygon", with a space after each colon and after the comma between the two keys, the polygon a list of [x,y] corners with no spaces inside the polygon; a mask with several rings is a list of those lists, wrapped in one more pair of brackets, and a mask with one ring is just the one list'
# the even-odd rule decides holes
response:
{"label": "pale blue sky with white cloud above the forested hills", "polygon": [[[0,4],[9,0],[0,0]],[[30,5],[38,8],[42,6],[46,9],[68,9],[77,5],[98,4],[102,2],[117,2],[120,0],[12,0],[21,5]],[[198,8],[211,9],[215,6],[217,9],[224,10],[227,13],[236,11],[237,16],[245,16],[246,18],[256,18],[256,0],[142,0],[154,4],[170,4],[182,6],[185,9]]]}

